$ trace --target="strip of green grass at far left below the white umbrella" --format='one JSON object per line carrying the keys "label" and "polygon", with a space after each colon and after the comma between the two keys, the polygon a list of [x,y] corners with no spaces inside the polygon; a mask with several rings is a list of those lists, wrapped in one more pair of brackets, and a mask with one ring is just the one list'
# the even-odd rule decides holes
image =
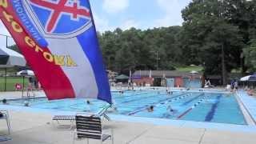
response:
{"label": "strip of green grass at far left below the white umbrella", "polygon": [[[6,78],[6,91],[15,90],[15,84],[20,83],[22,85],[23,78],[22,77],[7,77]],[[28,78],[24,79],[24,86],[27,86]],[[5,78],[0,77],[0,91],[4,91],[5,87]]]}

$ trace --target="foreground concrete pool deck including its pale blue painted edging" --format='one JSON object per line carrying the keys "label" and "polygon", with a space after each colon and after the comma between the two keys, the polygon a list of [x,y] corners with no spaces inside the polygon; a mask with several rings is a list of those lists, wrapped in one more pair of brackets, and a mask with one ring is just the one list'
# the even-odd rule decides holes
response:
{"label": "foreground concrete pool deck including its pale blue painted edging", "polygon": [[[40,97],[43,95],[42,91],[37,93]],[[1,99],[15,98],[15,96],[16,98],[21,98],[21,93],[1,93]],[[244,97],[246,98],[246,95]],[[251,104],[251,101],[250,99],[247,102]],[[256,102],[255,99],[254,101]],[[0,109],[10,111],[12,126],[12,133],[9,136],[12,139],[1,143],[72,143],[74,130],[55,127],[51,121],[54,114],[53,111],[37,110],[30,107],[21,108],[20,106],[0,106]],[[107,127],[113,128],[115,144],[253,144],[255,143],[254,138],[256,138],[255,126],[175,121],[160,118],[138,118],[111,114],[110,118],[113,120],[105,124]],[[2,134],[7,134],[5,121],[0,121],[0,135]],[[90,143],[98,142],[91,141]]]}

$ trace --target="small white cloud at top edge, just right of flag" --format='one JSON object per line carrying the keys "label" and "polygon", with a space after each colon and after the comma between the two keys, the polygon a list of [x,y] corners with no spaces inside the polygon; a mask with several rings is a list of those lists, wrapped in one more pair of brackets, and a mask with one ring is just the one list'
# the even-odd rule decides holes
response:
{"label": "small white cloud at top edge, just right of flag", "polygon": [[128,6],[129,0],[103,0],[103,10],[110,14],[126,10]]}

